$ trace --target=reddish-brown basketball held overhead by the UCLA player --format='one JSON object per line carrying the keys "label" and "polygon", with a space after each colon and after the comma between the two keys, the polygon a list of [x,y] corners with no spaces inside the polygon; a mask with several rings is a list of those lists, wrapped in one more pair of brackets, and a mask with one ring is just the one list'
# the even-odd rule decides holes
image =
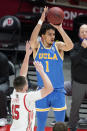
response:
{"label": "reddish-brown basketball held overhead by the UCLA player", "polygon": [[46,14],[47,21],[54,25],[59,25],[63,22],[64,11],[59,7],[52,7]]}

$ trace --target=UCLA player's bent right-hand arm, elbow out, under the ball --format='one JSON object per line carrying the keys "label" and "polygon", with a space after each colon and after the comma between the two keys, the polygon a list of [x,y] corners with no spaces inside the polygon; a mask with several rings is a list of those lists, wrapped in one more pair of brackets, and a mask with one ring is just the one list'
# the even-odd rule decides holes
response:
{"label": "UCLA player's bent right-hand arm, elbow out, under the ball", "polygon": [[66,34],[64,29],[62,28],[62,24],[61,25],[53,25],[53,26],[58,30],[58,32],[61,34],[61,36],[64,40],[64,42],[59,41],[59,42],[56,43],[58,48],[63,50],[63,51],[71,50],[73,48],[73,42],[70,39],[70,37]]}

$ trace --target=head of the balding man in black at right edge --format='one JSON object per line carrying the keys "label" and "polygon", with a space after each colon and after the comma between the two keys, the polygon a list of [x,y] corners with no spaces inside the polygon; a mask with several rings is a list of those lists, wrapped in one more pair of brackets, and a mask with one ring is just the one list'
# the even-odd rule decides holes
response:
{"label": "head of the balding man in black at right edge", "polygon": [[87,25],[84,24],[79,29],[79,37],[82,39],[87,39]]}

